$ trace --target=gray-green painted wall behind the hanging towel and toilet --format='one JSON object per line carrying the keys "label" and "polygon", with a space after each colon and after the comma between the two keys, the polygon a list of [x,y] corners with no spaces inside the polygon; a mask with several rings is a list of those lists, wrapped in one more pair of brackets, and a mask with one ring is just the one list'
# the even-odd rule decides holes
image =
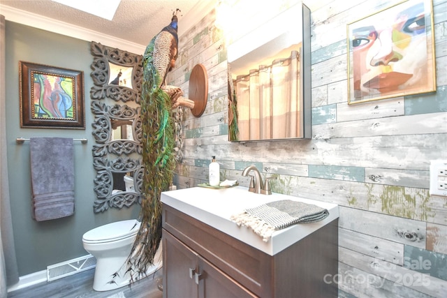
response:
{"label": "gray-green painted wall behind the hanging towel and toilet", "polygon": [[[59,68],[82,70],[85,80],[85,130],[20,128],[19,61]],[[89,92],[92,57],[89,42],[40,29],[6,22],[6,114],[8,177],[15,250],[20,276],[45,270],[48,265],[78,258],[88,253],[82,247],[82,234],[105,223],[137,218],[139,207],[109,209],[94,214],[94,168],[91,148],[93,115]],[[75,214],[52,221],[31,218],[29,142],[16,144],[17,137],[87,138],[75,142]]]}

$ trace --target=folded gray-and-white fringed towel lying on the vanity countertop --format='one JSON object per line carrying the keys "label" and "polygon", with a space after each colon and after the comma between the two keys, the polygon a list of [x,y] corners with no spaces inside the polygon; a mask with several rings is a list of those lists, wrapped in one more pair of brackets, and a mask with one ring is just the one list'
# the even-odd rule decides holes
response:
{"label": "folded gray-and-white fringed towel lying on the vanity countertop", "polygon": [[276,230],[295,223],[314,223],[329,216],[329,211],[314,204],[293,200],[279,200],[258,207],[247,208],[231,216],[237,225],[244,225],[263,237],[267,242]]}

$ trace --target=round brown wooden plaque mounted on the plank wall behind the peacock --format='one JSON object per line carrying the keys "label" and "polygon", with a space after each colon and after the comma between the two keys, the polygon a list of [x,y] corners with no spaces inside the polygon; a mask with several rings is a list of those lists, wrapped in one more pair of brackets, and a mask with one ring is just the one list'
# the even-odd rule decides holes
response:
{"label": "round brown wooden plaque mounted on the plank wall behind the peacock", "polygon": [[194,102],[194,107],[191,109],[193,115],[202,116],[208,100],[208,75],[202,64],[196,64],[191,71],[188,97]]}

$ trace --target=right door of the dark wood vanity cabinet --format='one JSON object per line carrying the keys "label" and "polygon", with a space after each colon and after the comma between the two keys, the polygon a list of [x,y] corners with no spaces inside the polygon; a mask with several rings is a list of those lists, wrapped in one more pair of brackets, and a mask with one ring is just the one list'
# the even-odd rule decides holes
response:
{"label": "right door of the dark wood vanity cabinet", "polygon": [[200,278],[198,281],[199,298],[244,298],[256,297],[242,285],[223,273],[217,267],[198,257]]}

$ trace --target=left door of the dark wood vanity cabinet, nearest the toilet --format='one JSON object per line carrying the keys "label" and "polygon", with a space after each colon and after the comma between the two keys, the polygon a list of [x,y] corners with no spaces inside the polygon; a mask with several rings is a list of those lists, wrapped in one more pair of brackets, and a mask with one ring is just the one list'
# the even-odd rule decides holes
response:
{"label": "left door of the dark wood vanity cabinet, nearest the toilet", "polygon": [[198,297],[196,268],[197,254],[163,230],[163,298]]}

